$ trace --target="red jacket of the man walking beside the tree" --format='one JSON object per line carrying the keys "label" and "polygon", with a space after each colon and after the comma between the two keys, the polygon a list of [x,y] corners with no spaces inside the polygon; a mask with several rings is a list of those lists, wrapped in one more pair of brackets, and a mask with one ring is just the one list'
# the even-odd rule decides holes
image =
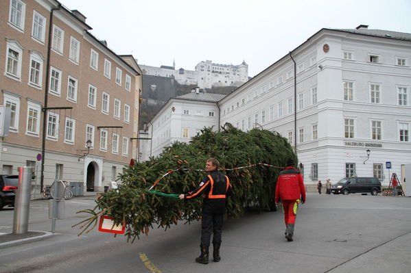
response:
{"label": "red jacket of the man walking beside the tree", "polygon": [[305,187],[300,171],[293,167],[287,167],[280,172],[275,189],[275,203],[279,200],[296,200],[301,198],[305,202]]}

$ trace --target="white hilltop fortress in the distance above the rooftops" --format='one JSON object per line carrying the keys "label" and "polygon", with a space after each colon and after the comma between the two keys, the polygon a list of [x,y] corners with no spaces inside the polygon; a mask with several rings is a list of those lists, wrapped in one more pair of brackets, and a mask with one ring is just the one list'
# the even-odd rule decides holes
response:
{"label": "white hilltop fortress in the distance above the rooftops", "polygon": [[201,89],[216,86],[241,86],[248,81],[248,64],[242,62],[239,65],[213,64],[207,60],[199,62],[196,70],[176,70],[173,66],[145,66],[140,65],[144,75],[159,77],[174,77],[180,84],[196,85]]}

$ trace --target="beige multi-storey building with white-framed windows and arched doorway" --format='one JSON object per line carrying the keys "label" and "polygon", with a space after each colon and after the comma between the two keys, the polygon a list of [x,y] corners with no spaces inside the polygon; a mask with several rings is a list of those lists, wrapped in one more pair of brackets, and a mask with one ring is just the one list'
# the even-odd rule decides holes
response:
{"label": "beige multi-storey building with white-framed windows and arched doorway", "polygon": [[[130,139],[138,132],[141,70],[90,29],[84,15],[58,1],[0,3],[0,105],[12,112],[0,142],[0,171],[35,166],[37,192],[39,154],[45,185],[57,178],[97,191],[135,153]],[[91,148],[82,157],[87,140]]]}

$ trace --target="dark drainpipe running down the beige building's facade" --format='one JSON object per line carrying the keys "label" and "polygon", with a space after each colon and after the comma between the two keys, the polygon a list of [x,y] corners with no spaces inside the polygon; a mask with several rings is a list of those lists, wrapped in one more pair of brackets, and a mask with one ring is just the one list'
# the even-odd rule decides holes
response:
{"label": "dark drainpipe running down the beige building's facade", "polygon": [[45,162],[45,148],[46,148],[46,126],[47,126],[47,103],[49,99],[49,81],[50,81],[50,53],[51,53],[51,36],[53,28],[53,13],[55,10],[60,10],[61,4],[58,3],[57,8],[51,8],[49,18],[49,40],[47,45],[47,65],[46,65],[46,82],[45,82],[45,94],[44,94],[44,107],[43,107],[43,135],[41,143],[41,177],[40,177],[40,192],[43,192],[44,185],[44,162]]}

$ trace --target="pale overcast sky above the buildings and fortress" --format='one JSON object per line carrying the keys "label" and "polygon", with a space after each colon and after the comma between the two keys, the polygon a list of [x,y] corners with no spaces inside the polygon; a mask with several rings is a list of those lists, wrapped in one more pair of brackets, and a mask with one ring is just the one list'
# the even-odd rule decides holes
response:
{"label": "pale overcast sky above the buildings and fortress", "polygon": [[410,0],[60,0],[139,64],[248,64],[253,77],[322,27],[411,33]]}

